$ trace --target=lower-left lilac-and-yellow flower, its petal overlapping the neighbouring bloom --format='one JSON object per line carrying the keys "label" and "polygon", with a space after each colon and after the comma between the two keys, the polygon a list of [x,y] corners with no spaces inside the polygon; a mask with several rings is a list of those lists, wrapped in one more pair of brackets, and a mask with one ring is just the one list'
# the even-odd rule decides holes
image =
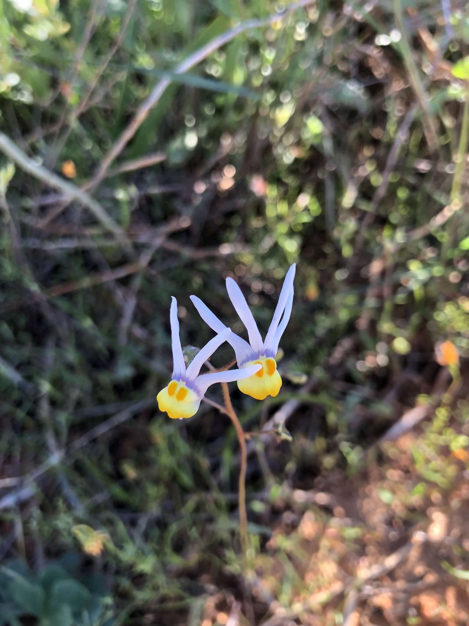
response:
{"label": "lower-left lilac-and-yellow flower, its petal overlapping the neighbouring bloom", "polygon": [[223,331],[213,337],[194,356],[193,361],[186,369],[181,340],[179,339],[178,302],[174,297],[171,298],[169,321],[171,322],[171,344],[173,347],[173,376],[171,382],[164,389],[161,389],[156,399],[159,410],[166,411],[170,418],[191,418],[197,412],[208,387],[215,382],[239,381],[241,378],[252,376],[261,369],[261,366],[256,364],[246,369],[231,369],[199,376],[199,371],[204,362],[228,339],[231,329],[223,327]]}

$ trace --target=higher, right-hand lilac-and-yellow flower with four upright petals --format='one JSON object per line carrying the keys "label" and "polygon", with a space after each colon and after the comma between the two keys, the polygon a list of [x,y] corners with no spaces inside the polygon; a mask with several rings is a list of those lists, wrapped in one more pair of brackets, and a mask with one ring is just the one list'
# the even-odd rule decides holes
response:
{"label": "higher, right-hand lilac-and-yellow flower with four upright petals", "polygon": [[[238,387],[243,393],[248,394],[258,400],[263,400],[267,396],[276,396],[282,384],[280,374],[277,371],[275,356],[278,351],[278,344],[281,336],[285,332],[286,325],[290,319],[291,305],[293,304],[293,279],[295,278],[296,265],[291,265],[288,270],[283,287],[278,298],[278,303],[273,314],[270,327],[265,340],[262,341],[261,334],[256,325],[245,297],[241,293],[240,287],[231,278],[226,279],[226,289],[229,299],[240,316],[241,321],[248,331],[249,343],[231,332],[226,337],[226,341],[235,350],[238,367],[248,368],[253,364],[261,364],[255,374],[245,379],[238,380]],[[214,315],[201,299],[191,295],[191,300],[198,310],[201,318],[215,332],[224,332],[226,326]]]}

